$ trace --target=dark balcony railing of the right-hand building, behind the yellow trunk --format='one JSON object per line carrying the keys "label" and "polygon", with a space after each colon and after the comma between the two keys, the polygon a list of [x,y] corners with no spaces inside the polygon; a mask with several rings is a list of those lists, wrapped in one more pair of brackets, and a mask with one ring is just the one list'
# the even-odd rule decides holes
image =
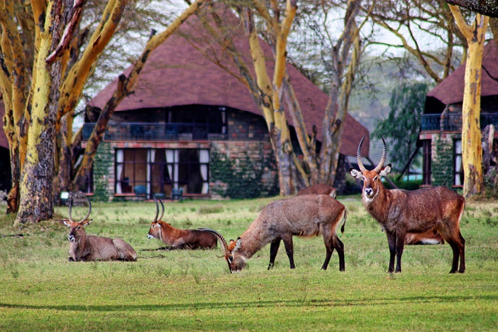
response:
{"label": "dark balcony railing of the right-hand building, behind the yellow trunk", "polygon": [[[488,124],[498,126],[498,114],[482,113],[479,119],[481,129]],[[442,128],[441,128],[442,126]],[[422,115],[422,131],[462,131],[462,114],[424,114]]]}

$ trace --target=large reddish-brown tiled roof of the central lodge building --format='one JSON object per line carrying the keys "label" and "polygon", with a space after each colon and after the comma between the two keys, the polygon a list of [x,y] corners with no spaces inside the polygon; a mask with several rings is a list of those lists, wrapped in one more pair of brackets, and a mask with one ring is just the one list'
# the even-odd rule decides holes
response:
{"label": "large reddish-brown tiled roof of the central lodge building", "polygon": [[[258,105],[249,94],[248,88],[234,76],[213,63],[199,49],[209,52],[216,45],[208,42],[196,42],[192,45],[193,36],[199,36],[198,20],[191,17],[179,32],[173,34],[162,45],[157,47],[146,62],[133,94],[124,98],[115,111],[169,107],[190,104],[220,105],[262,115]],[[185,38],[184,36],[189,36]],[[195,38],[198,40],[197,38]],[[241,31],[234,38],[238,49],[250,57],[247,37]],[[264,45],[266,54],[271,54]],[[217,53],[219,56],[219,53]],[[238,73],[231,61],[223,58],[221,63]],[[251,60],[246,63],[251,64]],[[272,68],[273,60],[267,57],[267,64]],[[252,70],[252,68],[249,68]],[[129,69],[128,69],[129,70]],[[290,80],[299,100],[307,130],[315,124],[318,139],[321,140],[321,127],[328,96],[302,75],[295,67],[287,65]],[[270,71],[271,77],[273,73]],[[116,80],[105,87],[90,105],[102,107],[116,89]],[[290,114],[287,119],[292,123]],[[344,155],[356,156],[358,142],[363,135],[369,137],[368,130],[347,115],[343,131],[340,152]],[[369,141],[365,141],[364,156],[368,156]]]}

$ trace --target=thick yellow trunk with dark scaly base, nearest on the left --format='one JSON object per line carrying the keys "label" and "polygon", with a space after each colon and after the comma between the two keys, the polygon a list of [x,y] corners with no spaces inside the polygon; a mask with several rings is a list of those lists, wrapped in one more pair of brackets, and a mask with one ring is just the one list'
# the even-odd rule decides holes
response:
{"label": "thick yellow trunk with dark scaly base, nearest on the left", "polygon": [[[55,114],[61,77],[59,63],[48,65],[45,58],[54,48],[60,27],[54,17],[58,8],[49,2],[34,6],[36,58],[31,91],[31,121],[28,124],[26,157],[19,184],[20,204],[15,224],[52,218],[52,181],[54,176]],[[54,12],[52,12],[54,11]]]}

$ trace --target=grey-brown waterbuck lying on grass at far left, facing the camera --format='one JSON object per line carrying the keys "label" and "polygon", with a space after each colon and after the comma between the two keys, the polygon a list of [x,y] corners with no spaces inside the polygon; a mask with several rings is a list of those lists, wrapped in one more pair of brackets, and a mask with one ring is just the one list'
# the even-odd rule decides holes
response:
{"label": "grey-brown waterbuck lying on grass at far left, facing the camera", "polygon": [[95,260],[127,260],[136,261],[136,252],[131,245],[122,239],[86,235],[85,229],[92,221],[88,219],[92,211],[92,204],[88,201],[87,215],[81,221],[73,221],[71,206],[73,198],[69,200],[69,221],[63,221],[71,230],[69,232],[69,261],[95,261]]}

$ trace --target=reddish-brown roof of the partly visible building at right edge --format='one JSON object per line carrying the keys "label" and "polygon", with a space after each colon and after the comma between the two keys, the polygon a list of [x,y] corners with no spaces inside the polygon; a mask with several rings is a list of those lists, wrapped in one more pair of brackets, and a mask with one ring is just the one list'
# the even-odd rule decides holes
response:
{"label": "reddish-brown roof of the partly visible building at right edge", "polygon": [[[493,40],[484,47],[482,68],[481,96],[498,95],[498,46]],[[465,63],[429,91],[427,96],[434,97],[445,105],[461,102],[464,94],[464,75]]]}

